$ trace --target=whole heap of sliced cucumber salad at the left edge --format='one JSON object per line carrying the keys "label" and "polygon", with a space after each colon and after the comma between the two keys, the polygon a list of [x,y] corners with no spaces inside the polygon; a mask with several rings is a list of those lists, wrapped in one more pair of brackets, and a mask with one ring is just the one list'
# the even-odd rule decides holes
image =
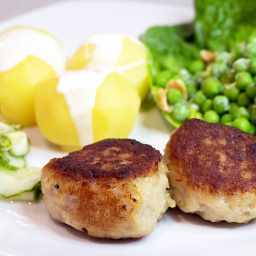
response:
{"label": "whole heap of sliced cucumber salad at the left edge", "polygon": [[0,121],[0,199],[39,199],[41,169],[26,166],[29,150],[29,139],[22,126]]}

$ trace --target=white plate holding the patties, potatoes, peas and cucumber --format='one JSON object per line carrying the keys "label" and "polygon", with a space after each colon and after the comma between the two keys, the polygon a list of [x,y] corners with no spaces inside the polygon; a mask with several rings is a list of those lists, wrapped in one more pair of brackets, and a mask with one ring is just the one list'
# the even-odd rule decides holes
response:
{"label": "white plate holding the patties, potatoes, peas and cucumber", "polygon": [[[30,25],[55,34],[71,55],[86,36],[121,32],[139,36],[152,25],[177,24],[193,18],[193,10],[170,4],[136,2],[66,2],[51,5],[0,24]],[[163,152],[170,126],[156,109],[140,113],[131,134]],[[62,156],[36,128],[28,164],[43,166]],[[42,202],[0,202],[0,255],[255,255],[256,223],[247,225],[203,221],[198,216],[168,210],[150,236],[121,241],[93,239],[53,221]]]}

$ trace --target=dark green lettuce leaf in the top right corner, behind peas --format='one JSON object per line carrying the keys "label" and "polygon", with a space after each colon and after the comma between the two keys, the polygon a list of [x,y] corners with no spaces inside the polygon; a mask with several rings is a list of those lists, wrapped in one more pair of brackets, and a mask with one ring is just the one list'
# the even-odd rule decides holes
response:
{"label": "dark green lettuce leaf in the top right corner, behind peas", "polygon": [[255,0],[195,0],[197,45],[211,51],[233,51],[256,27]]}

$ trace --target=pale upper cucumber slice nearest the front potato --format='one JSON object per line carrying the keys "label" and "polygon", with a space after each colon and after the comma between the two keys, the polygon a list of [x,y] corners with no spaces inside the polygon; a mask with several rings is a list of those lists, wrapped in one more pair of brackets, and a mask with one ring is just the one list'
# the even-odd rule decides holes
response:
{"label": "pale upper cucumber slice nearest the front potato", "polygon": [[15,131],[3,135],[11,141],[10,154],[13,156],[25,156],[29,152],[29,139],[25,132]]}

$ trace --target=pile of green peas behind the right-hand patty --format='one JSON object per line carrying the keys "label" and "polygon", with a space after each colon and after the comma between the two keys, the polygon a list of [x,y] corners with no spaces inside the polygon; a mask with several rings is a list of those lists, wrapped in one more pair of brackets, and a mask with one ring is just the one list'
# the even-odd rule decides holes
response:
{"label": "pile of green peas behind the right-hand patty", "polygon": [[186,85],[187,101],[176,88],[167,92],[174,121],[200,118],[256,135],[256,40],[244,45],[239,58],[219,52],[208,65],[197,59],[187,69],[178,69],[173,57],[164,58],[160,65],[156,86],[164,88],[170,78],[180,78]]}

